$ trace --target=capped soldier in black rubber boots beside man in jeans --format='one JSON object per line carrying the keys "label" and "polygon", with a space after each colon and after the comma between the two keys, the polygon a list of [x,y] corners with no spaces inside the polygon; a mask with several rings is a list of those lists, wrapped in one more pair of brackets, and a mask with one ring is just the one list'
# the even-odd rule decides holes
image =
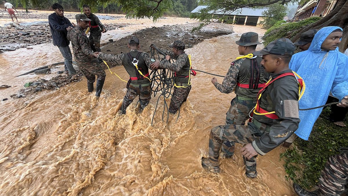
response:
{"label": "capped soldier in black rubber boots beside man in jeans", "polygon": [[93,92],[95,75],[97,75],[97,84],[95,88],[95,96],[100,97],[105,81],[105,71],[98,63],[98,59],[94,58],[90,43],[84,30],[88,28],[88,21],[84,14],[77,14],[77,25],[74,29],[68,31],[68,39],[71,41],[75,61],[87,78],[88,92]]}

